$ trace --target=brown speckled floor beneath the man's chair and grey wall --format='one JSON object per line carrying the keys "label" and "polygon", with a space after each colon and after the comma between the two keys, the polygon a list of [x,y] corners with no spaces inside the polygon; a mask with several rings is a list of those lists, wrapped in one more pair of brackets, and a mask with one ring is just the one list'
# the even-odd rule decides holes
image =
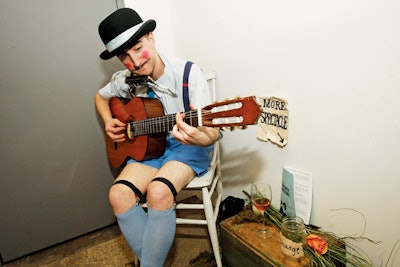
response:
{"label": "brown speckled floor beneath the man's chair and grey wall", "polygon": [[[190,266],[190,260],[203,251],[212,253],[207,227],[178,225],[165,266]],[[135,258],[118,226],[113,225],[6,263],[4,267],[135,266]]]}

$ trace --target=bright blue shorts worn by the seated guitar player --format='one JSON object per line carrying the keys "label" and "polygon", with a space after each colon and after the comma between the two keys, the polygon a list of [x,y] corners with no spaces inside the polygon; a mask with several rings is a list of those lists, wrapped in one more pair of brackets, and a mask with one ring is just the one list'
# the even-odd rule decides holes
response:
{"label": "bright blue shorts worn by the seated guitar player", "polygon": [[[197,176],[202,176],[207,172],[207,168],[210,165],[210,152],[213,147],[213,145],[208,147],[184,145],[169,136],[167,137],[165,152],[161,157],[140,161],[140,163],[160,169],[168,161],[179,161],[192,168]],[[127,163],[133,162],[137,161],[130,159]]]}

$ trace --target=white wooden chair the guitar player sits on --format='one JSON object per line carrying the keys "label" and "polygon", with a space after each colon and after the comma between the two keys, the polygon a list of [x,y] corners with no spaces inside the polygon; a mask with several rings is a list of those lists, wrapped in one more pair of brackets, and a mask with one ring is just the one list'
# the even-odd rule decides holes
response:
{"label": "white wooden chair the guitar player sits on", "polygon": [[[216,72],[206,73],[207,81],[210,85],[213,100],[216,99]],[[202,177],[195,177],[184,189],[185,191],[201,191],[202,203],[201,204],[185,204],[177,203],[176,210],[203,210],[205,219],[188,219],[180,218],[177,216],[177,224],[193,224],[193,225],[207,225],[208,233],[211,240],[212,249],[214,252],[215,261],[218,267],[222,266],[221,253],[219,249],[218,233],[217,233],[217,217],[219,212],[219,205],[222,199],[222,182],[221,182],[221,169],[220,169],[220,150],[219,141],[214,144],[212,152],[212,159],[208,172]]]}

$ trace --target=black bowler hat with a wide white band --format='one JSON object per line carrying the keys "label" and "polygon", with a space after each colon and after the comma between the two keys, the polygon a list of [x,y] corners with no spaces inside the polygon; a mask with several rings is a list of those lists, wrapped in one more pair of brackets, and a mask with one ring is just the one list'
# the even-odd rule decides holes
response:
{"label": "black bowler hat with a wide white band", "polygon": [[101,59],[110,59],[120,54],[129,45],[134,45],[143,35],[154,31],[156,22],[152,19],[143,22],[138,13],[130,8],[114,11],[99,24],[99,34],[106,50]]}

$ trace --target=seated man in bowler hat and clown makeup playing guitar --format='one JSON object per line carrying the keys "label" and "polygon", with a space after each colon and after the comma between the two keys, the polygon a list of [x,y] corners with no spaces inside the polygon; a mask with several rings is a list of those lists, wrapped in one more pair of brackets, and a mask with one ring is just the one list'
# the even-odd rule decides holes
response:
{"label": "seated man in bowler hat and clown makeup playing guitar", "polygon": [[[213,143],[220,138],[217,129],[184,122],[184,111],[210,104],[212,96],[199,66],[157,52],[155,28],[154,20],[144,22],[129,8],[113,12],[98,28],[106,47],[100,57],[107,60],[116,56],[126,68],[116,72],[95,96],[106,135],[116,143],[127,138],[126,123],[111,113],[110,100],[115,97],[157,98],[166,115],[176,113],[164,154],[142,161],[128,159],[109,191],[121,232],[142,267],[163,266],[175,236],[175,196],[195,176],[201,179],[209,166]],[[148,77],[150,82],[132,87],[125,82],[132,76]],[[147,212],[138,205],[143,195]]]}

